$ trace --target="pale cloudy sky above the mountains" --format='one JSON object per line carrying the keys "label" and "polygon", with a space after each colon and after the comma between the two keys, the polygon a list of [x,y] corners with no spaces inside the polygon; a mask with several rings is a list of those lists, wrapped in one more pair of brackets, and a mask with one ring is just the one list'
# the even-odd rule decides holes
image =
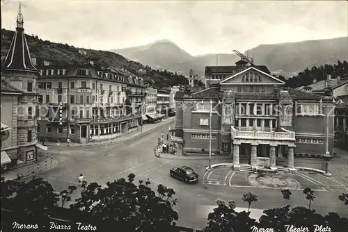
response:
{"label": "pale cloudy sky above the mountains", "polygon": [[[193,56],[348,35],[347,1],[21,1],[42,40],[111,50],[171,40]],[[1,0],[15,30],[19,1]]]}

